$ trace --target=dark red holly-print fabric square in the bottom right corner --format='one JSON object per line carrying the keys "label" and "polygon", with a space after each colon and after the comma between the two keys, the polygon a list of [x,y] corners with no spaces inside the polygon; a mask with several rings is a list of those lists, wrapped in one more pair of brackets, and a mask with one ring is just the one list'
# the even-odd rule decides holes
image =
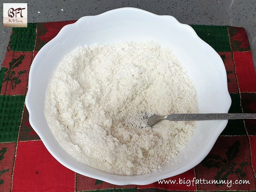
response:
{"label": "dark red holly-print fabric square in the bottom right corner", "polygon": [[[224,180],[230,183],[197,185],[198,191],[253,191],[256,188],[247,136],[219,137],[210,153],[195,167],[196,179]],[[249,180],[250,184],[236,184]]]}

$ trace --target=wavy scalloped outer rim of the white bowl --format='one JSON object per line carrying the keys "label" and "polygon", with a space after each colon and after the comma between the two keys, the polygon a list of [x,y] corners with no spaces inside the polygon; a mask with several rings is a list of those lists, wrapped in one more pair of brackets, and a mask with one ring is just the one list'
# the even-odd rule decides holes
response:
{"label": "wavy scalloped outer rim of the white bowl", "polygon": [[[36,131],[36,133],[39,135],[39,137],[41,138],[41,140],[44,143],[47,150],[61,164],[63,164],[67,168],[71,169],[72,171],[75,171],[75,172],[80,173],[82,175],[92,177],[92,178],[95,178],[95,179],[99,179],[99,180],[103,180],[103,181],[106,181],[106,182],[109,182],[109,183],[112,183],[112,184],[116,184],[116,185],[128,185],[128,184],[146,185],[146,184],[156,182],[157,180],[162,180],[162,179],[165,179],[165,178],[168,178],[168,177],[171,177],[171,176],[175,176],[175,175],[180,174],[182,172],[185,172],[185,171],[193,168],[195,165],[199,164],[204,159],[204,157],[207,156],[207,154],[210,152],[214,143],[216,142],[220,133],[224,130],[228,121],[227,120],[222,120],[221,121],[220,127],[218,129],[216,129],[214,134],[212,135],[212,140],[208,144],[207,149],[204,152],[202,152],[202,154],[198,157],[197,161],[194,162],[193,164],[184,166],[182,169],[174,170],[172,172],[168,172],[168,173],[158,175],[156,177],[151,177],[151,178],[148,178],[146,175],[137,175],[137,177],[112,175],[112,174],[109,174],[109,173],[100,172],[100,171],[98,171],[96,169],[93,169],[93,168],[91,168],[92,170],[88,171],[89,172],[88,173],[86,171],[81,171],[76,166],[76,164],[74,165],[74,164],[68,163],[61,154],[58,154],[58,153],[56,153],[56,150],[55,151],[53,150],[52,142],[50,140],[48,140],[47,137],[44,134],[42,134],[41,131],[37,128],[37,125],[36,125],[37,119],[34,117],[34,112],[36,110],[36,108],[34,106],[35,103],[33,104],[33,103],[30,102],[30,100],[33,98],[33,92],[34,92],[34,90],[32,90],[32,88],[35,87],[35,85],[34,85],[34,78],[35,77],[33,76],[33,74],[35,73],[35,71],[37,69],[36,64],[40,63],[41,59],[47,53],[49,53],[56,46],[56,44],[58,44],[59,42],[61,42],[63,40],[62,36],[65,36],[65,33],[68,33],[68,31],[70,31],[72,28],[79,27],[80,24],[82,25],[83,22],[85,22],[89,18],[92,19],[92,18],[104,17],[107,14],[113,14],[113,15],[120,14],[123,11],[128,11],[128,12],[132,11],[132,12],[138,12],[138,13],[142,12],[145,15],[148,14],[148,15],[154,16],[156,18],[159,18],[159,20],[161,20],[162,18],[168,18],[168,20],[172,21],[172,23],[175,23],[179,26],[182,26],[183,28],[186,28],[186,30],[189,30],[191,32],[192,36],[194,36],[197,39],[198,44],[201,45],[202,49],[208,50],[209,53],[211,52],[212,57],[215,58],[219,63],[218,67],[221,69],[221,71],[219,71],[219,77],[222,79],[222,82],[224,84],[223,86],[225,87],[225,90],[226,90],[225,93],[223,93],[224,97],[225,97],[225,100],[226,100],[226,106],[224,106],[225,109],[223,109],[222,112],[223,113],[228,113],[228,110],[231,106],[231,98],[230,98],[229,93],[228,93],[226,70],[225,70],[223,61],[221,60],[218,53],[210,45],[208,45],[201,38],[199,38],[199,36],[197,36],[196,32],[194,31],[194,29],[192,27],[190,27],[189,25],[182,24],[178,20],[176,20],[174,17],[169,16],[169,15],[163,15],[163,16],[162,15],[156,15],[156,14],[153,14],[151,12],[147,12],[147,11],[137,9],[137,8],[120,8],[120,9],[114,9],[114,10],[111,10],[111,11],[108,11],[108,12],[104,12],[104,13],[101,13],[101,14],[95,15],[95,16],[84,16],[84,17],[80,18],[79,20],[77,20],[75,23],[68,24],[68,25],[64,26],[60,30],[60,32],[57,34],[57,36],[55,36],[51,41],[49,41],[47,44],[45,44],[41,48],[41,50],[37,53],[36,57],[34,58],[34,60],[32,62],[32,65],[31,65],[31,68],[30,68],[30,72],[29,72],[28,92],[27,92],[25,103],[26,103],[26,107],[27,107],[28,112],[29,112],[29,122],[30,122],[31,126]],[[78,163],[78,162],[76,162],[76,163]],[[88,168],[88,169],[90,169],[90,168]],[[150,173],[150,174],[154,174],[154,172]]]}

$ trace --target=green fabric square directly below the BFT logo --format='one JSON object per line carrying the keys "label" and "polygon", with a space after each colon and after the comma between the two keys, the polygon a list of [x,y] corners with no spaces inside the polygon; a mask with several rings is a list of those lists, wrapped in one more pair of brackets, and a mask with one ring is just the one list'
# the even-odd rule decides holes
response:
{"label": "green fabric square directly below the BFT logo", "polygon": [[36,43],[36,23],[28,23],[28,27],[12,28],[12,51],[34,51]]}

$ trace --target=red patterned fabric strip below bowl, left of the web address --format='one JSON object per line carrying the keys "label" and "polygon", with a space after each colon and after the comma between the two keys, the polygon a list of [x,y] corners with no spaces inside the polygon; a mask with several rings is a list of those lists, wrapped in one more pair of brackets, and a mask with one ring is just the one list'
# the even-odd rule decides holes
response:
{"label": "red patterned fabric strip below bowl, left of the web address", "polygon": [[113,185],[105,181],[96,180],[76,173],[76,191],[123,188],[136,188],[136,185]]}

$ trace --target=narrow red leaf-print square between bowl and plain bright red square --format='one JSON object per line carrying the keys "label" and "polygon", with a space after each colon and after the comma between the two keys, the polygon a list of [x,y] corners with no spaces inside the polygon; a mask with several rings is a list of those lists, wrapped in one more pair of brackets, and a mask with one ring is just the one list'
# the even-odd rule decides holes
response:
{"label": "narrow red leaf-print square between bowl and plain bright red square", "polygon": [[236,72],[235,72],[235,64],[233,61],[232,52],[218,52],[227,72],[227,80],[228,80],[228,92],[229,93],[238,93]]}

